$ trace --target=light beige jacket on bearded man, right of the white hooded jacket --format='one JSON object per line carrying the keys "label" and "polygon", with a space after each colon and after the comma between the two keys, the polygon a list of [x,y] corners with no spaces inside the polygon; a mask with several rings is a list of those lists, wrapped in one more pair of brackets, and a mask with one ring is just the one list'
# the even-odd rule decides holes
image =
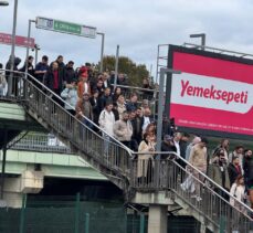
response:
{"label": "light beige jacket on bearded man, right of the white hooded jacket", "polygon": [[130,141],[133,135],[130,120],[117,120],[114,125],[114,135],[119,141]]}

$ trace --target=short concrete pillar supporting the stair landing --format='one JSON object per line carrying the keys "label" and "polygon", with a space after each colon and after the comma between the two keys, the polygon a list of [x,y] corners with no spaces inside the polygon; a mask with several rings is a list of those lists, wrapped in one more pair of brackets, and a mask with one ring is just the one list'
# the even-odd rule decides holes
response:
{"label": "short concrete pillar supporting the stair landing", "polygon": [[148,233],[167,233],[168,206],[150,204],[148,213]]}

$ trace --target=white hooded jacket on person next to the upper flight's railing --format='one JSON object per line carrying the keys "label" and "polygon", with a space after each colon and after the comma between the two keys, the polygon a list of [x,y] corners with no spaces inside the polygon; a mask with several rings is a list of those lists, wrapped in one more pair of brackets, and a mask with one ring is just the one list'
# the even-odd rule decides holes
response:
{"label": "white hooded jacket on person next to the upper flight's railing", "polygon": [[98,124],[103,130],[108,135],[114,137],[114,124],[115,117],[113,112],[107,112],[106,109],[101,112]]}

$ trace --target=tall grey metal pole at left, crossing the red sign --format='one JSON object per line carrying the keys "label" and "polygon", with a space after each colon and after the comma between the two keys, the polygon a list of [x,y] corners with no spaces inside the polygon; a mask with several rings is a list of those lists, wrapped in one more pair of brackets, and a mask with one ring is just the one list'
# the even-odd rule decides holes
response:
{"label": "tall grey metal pole at left, crossing the red sign", "polygon": [[15,28],[17,28],[18,0],[14,0],[13,25],[11,35],[11,73],[8,77],[8,96],[12,95],[14,52],[15,52]]}

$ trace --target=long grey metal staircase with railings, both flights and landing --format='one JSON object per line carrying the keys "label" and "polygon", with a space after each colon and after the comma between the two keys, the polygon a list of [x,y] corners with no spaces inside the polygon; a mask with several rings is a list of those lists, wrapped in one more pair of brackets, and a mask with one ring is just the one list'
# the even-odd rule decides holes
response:
{"label": "long grey metal staircase with railings, both flights and landing", "polygon": [[[59,104],[63,99],[34,77],[29,75],[25,78],[24,74],[15,73],[13,83],[13,87],[17,88],[13,92],[14,95],[0,97],[0,100],[18,100],[31,117],[119,187],[129,202],[136,191],[164,191],[170,193],[175,203],[187,209],[191,215],[211,231],[217,232],[221,227],[224,227],[224,232],[232,232],[235,229],[245,233],[250,231],[252,210],[238,200],[235,200],[236,206],[232,206],[228,199],[223,198],[223,193],[228,198],[230,198],[230,193],[205,174],[199,171],[201,179],[193,177],[200,187],[201,201],[191,198],[191,193],[180,188],[181,179],[191,174],[178,162],[183,159],[169,159],[170,156],[166,160],[154,159],[150,180],[144,182],[141,179],[137,179],[137,171],[139,162],[147,161],[136,159],[138,155],[92,121],[93,127],[91,128],[76,119]],[[191,170],[196,170],[187,161],[183,160],[183,162]]]}

